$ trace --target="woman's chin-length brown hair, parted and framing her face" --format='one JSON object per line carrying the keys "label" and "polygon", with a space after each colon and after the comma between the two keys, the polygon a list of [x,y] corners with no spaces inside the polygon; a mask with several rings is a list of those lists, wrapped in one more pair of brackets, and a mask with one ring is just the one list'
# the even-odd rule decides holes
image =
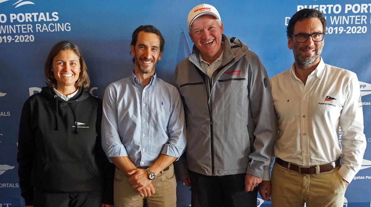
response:
{"label": "woman's chin-length brown hair, parted and framing her face", "polygon": [[75,54],[79,57],[81,72],[79,75],[79,79],[75,83],[75,87],[76,88],[83,87],[84,89],[89,88],[90,80],[88,75],[88,69],[86,68],[86,64],[84,58],[82,57],[81,50],[75,43],[72,43],[70,41],[60,41],[59,43],[55,44],[50,50],[44,65],[44,74],[45,79],[47,81],[46,83],[47,86],[54,87],[57,84],[57,80],[55,79],[52,71],[53,59],[62,50],[73,50]]}

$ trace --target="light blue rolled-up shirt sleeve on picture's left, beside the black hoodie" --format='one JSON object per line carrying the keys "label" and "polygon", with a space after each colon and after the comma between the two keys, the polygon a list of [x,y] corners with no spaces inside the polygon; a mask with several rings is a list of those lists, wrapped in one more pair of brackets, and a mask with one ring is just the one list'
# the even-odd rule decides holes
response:
{"label": "light blue rolled-up shirt sleeve on picture's left, beside the black hoodie", "polygon": [[109,85],[104,92],[102,116],[102,147],[107,157],[128,156],[118,133],[116,99],[117,91]]}

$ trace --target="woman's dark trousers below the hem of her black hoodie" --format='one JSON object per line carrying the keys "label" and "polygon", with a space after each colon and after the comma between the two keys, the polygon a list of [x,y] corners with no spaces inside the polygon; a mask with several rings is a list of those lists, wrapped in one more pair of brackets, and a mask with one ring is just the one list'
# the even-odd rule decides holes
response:
{"label": "woman's dark trousers below the hem of her black hoodie", "polygon": [[33,192],[35,207],[101,207],[102,204],[102,191],[49,193],[35,188]]}

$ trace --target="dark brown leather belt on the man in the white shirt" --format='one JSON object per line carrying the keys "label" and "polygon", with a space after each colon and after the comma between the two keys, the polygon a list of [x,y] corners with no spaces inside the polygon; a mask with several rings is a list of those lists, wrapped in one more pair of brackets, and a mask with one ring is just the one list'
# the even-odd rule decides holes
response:
{"label": "dark brown leather belt on the man in the white shirt", "polygon": [[309,167],[302,167],[298,166],[296,164],[288,163],[286,161],[281,160],[280,158],[276,157],[276,163],[279,164],[282,167],[288,168],[290,170],[296,171],[301,174],[319,174],[331,171],[335,167],[338,167],[341,165],[341,160],[338,158],[337,160],[326,163],[323,165],[315,165],[315,166],[309,166]]}

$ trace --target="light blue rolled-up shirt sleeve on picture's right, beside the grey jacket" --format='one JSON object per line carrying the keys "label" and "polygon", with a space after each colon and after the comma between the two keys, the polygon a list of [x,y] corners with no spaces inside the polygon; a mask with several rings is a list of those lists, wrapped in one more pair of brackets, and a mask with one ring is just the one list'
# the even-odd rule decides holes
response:
{"label": "light blue rolled-up shirt sleeve on picture's right, beside the grey jacket", "polygon": [[179,91],[175,87],[172,95],[172,108],[167,126],[170,141],[162,148],[161,154],[177,157],[178,160],[184,153],[187,140],[185,136],[184,108]]}

